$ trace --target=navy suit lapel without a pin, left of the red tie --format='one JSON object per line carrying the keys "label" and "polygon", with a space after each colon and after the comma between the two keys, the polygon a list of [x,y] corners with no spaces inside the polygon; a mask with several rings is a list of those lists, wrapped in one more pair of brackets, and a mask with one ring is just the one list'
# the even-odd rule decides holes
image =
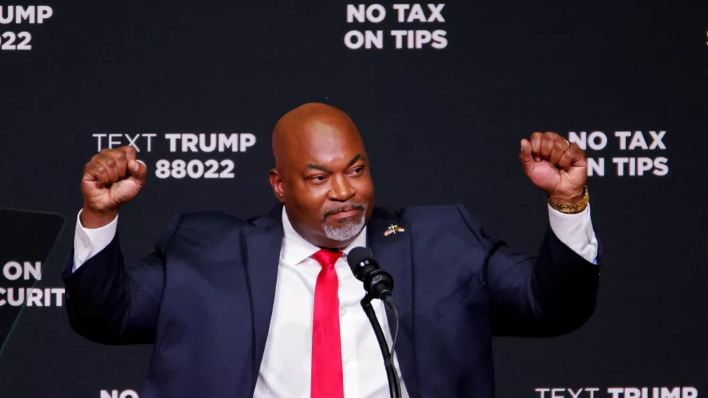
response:
{"label": "navy suit lapel without a pin, left of the red tie", "polygon": [[246,269],[251,290],[253,312],[253,382],[263,360],[268,339],[270,317],[273,314],[275,282],[278,280],[278,261],[282,244],[280,205],[266,217],[254,222],[256,229],[246,234]]}

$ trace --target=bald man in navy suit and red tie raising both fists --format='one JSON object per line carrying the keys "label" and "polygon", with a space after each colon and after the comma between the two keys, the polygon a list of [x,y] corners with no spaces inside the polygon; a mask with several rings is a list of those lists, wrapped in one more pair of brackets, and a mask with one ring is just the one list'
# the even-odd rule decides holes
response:
{"label": "bald man in navy suit and red tie raising both fists", "polygon": [[[552,132],[521,142],[549,195],[538,258],[513,254],[464,207],[374,207],[354,123],[311,103],[273,132],[279,205],[244,221],[173,219],[152,255],[124,266],[118,210],[145,183],[131,147],[86,164],[84,207],[64,271],[74,330],[100,343],[154,343],[142,397],[388,397],[377,341],[346,263],[372,249],[392,274],[404,397],[493,397],[493,335],[554,336],[595,305],[598,243],[583,151]],[[557,210],[556,210],[557,209]],[[374,301],[389,342],[392,322]]]}

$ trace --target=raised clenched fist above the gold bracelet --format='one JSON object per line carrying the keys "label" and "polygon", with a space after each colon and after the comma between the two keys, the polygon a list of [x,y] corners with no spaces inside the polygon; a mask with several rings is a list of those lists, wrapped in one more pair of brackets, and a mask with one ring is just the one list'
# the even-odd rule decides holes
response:
{"label": "raised clenched fist above the gold bracelet", "polygon": [[585,151],[555,132],[535,132],[521,140],[519,159],[524,173],[549,198],[565,203],[583,199],[588,179]]}

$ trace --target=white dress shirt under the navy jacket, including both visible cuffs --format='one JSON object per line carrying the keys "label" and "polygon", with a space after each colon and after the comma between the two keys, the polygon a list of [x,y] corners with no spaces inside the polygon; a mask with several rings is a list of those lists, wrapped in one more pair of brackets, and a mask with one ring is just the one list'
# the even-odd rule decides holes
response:
{"label": "white dress shirt under the navy jacket, including both visible cuffs", "polygon": [[[590,207],[575,215],[566,215],[551,207],[548,209],[550,226],[556,236],[580,256],[596,263],[598,241],[590,222]],[[118,225],[116,217],[104,227],[86,229],[79,220],[77,217],[74,270],[108,246]],[[280,247],[273,315],[254,398],[310,396],[314,289],[321,270],[312,254],[319,251],[319,247],[295,232],[285,208],[282,211],[282,225],[285,237]],[[365,291],[346,261],[350,249],[357,246],[367,246],[366,228],[343,249],[344,255],[334,266],[339,279],[344,397],[385,398],[389,397],[389,387],[384,361],[374,331],[360,306]],[[390,346],[392,337],[384,306],[379,300],[373,300],[372,306]],[[401,382],[401,395],[407,398],[409,395],[395,353],[394,365]]]}

